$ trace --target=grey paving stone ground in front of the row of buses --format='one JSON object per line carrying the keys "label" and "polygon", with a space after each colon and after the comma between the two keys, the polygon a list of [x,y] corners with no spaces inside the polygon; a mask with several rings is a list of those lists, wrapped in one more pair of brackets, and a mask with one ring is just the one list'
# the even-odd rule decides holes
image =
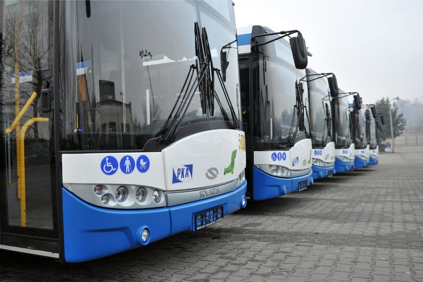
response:
{"label": "grey paving stone ground in front of the row of buses", "polygon": [[0,281],[423,282],[422,172],[423,147],[398,148],[376,166],[104,259],[61,265],[0,251]]}

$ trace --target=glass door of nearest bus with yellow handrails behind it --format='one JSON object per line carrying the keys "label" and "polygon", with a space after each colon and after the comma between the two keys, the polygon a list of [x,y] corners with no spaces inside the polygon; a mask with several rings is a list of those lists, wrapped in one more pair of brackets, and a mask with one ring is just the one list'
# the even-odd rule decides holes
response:
{"label": "glass door of nearest bus with yellow handrails behind it", "polygon": [[52,11],[0,0],[0,248],[35,254],[59,245]]}

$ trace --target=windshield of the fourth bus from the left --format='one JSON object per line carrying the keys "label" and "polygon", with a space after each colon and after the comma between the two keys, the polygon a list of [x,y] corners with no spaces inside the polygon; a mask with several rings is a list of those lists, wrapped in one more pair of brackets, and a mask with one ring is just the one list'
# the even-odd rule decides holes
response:
{"label": "windshield of the fourth bus from the left", "polygon": [[334,103],[336,148],[348,148],[351,145],[351,113],[348,98],[337,98]]}

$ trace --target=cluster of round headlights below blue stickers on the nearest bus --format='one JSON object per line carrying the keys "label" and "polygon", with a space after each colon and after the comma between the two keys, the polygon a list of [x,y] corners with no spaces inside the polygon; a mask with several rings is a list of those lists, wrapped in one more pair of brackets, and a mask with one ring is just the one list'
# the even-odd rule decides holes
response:
{"label": "cluster of round headlights below blue stickers on the nearest bus", "polygon": [[137,203],[146,203],[151,206],[151,204],[160,203],[163,194],[162,191],[150,187],[132,187],[125,185],[120,185],[117,188],[109,188],[107,185],[99,184],[96,185],[93,190],[94,194],[101,199],[101,203],[108,207],[120,205],[128,208],[136,208],[137,206],[134,205]]}

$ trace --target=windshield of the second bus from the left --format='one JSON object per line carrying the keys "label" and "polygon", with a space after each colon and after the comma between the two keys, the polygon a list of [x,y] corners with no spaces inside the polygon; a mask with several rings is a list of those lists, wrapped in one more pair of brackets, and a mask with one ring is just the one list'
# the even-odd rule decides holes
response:
{"label": "windshield of the second bus from the left", "polygon": [[[294,82],[299,78],[292,67],[279,60],[260,56],[255,61],[253,73],[256,78],[253,81],[257,81],[258,85],[253,96],[253,104],[257,107],[253,134],[262,149],[281,150],[295,138],[298,112],[294,107],[297,103]],[[303,90],[303,97],[307,97],[306,85],[303,85]],[[302,118],[302,122],[307,121]],[[296,136],[304,134],[306,126],[308,124],[300,126]]]}

